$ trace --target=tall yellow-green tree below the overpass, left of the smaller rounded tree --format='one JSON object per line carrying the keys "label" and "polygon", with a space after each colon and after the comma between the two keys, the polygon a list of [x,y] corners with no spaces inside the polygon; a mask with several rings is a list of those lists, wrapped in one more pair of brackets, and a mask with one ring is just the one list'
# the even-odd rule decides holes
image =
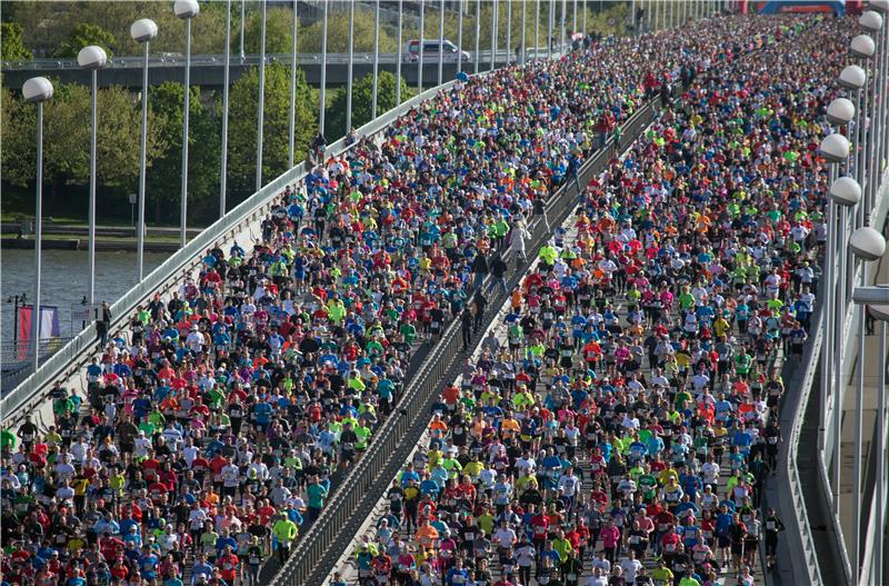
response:
{"label": "tall yellow-green tree below the overpass, left of the smaller rounded tree", "polygon": [[[256,149],[258,121],[259,71],[251,68],[229,93],[229,183],[234,196],[252,193],[256,187]],[[318,100],[306,83],[302,70],[297,71],[297,123],[294,160],[306,157],[307,146],[318,133]],[[262,142],[263,182],[287,169],[290,120],[290,68],[266,67],[266,99]],[[237,197],[234,198],[237,199]],[[232,202],[234,203],[234,202]]]}

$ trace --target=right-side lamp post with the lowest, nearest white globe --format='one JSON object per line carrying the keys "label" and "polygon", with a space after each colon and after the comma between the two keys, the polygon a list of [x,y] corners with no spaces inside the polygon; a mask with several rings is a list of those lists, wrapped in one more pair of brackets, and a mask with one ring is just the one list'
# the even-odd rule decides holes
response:
{"label": "right-side lamp post with the lowest, nearest white globe", "polygon": [[[863,261],[861,268],[861,277],[859,285],[867,285],[868,261],[877,260],[886,252],[886,239],[880,232],[869,226],[863,226],[852,232],[849,238],[849,249],[852,255]],[[852,584],[859,584],[861,576],[861,426],[863,414],[863,395],[865,395],[865,336],[862,336],[861,328],[865,324],[865,306],[858,306],[858,388],[856,389],[855,398],[855,451],[852,456]],[[885,359],[885,358],[882,358]],[[880,373],[880,378],[886,376],[885,371]],[[877,420],[878,426],[882,426],[882,420]],[[839,431],[839,430],[838,430]],[[837,437],[839,443],[839,436]],[[880,446],[880,449],[882,446]],[[878,456],[879,457],[879,456]],[[883,530],[882,527],[879,530]]]}

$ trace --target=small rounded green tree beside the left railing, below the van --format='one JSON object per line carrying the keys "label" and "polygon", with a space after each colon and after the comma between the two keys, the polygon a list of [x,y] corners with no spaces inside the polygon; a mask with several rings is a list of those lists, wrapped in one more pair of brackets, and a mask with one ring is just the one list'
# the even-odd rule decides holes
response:
{"label": "small rounded green tree beside the left railing, below the van", "polygon": [[[401,100],[404,101],[413,96],[413,92],[404,79],[401,79]],[[346,129],[346,99],[348,88],[346,86],[337,89],[333,100],[327,108],[326,128],[329,139],[344,136]],[[373,106],[373,73],[368,73],[353,83],[352,87],[352,127],[360,128],[370,122]],[[377,88],[377,116],[382,115],[396,107],[396,76],[390,71],[380,71]]]}

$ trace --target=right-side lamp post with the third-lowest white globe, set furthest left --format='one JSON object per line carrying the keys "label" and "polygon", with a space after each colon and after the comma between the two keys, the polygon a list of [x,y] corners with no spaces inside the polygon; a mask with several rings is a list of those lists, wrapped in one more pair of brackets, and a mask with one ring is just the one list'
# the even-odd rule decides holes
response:
{"label": "right-side lamp post with the third-lowest white globe, set furthest left", "polygon": [[[821,140],[821,143],[818,147],[818,153],[825,158],[828,162],[833,163],[830,166],[830,179],[831,186],[832,181],[837,178],[837,165],[845,162],[849,158],[849,141],[842,135],[838,132],[833,132],[825,137]],[[826,377],[826,389],[830,388],[831,378],[836,377],[836,388],[833,389],[833,430],[835,430],[835,441],[833,441],[833,478],[831,478],[832,491],[833,491],[833,505],[835,507],[839,506],[839,453],[840,453],[840,443],[839,443],[839,429],[841,425],[840,420],[840,410],[842,408],[842,404],[840,400],[841,391],[840,385],[842,383],[842,377],[839,374],[841,366],[842,366],[842,322],[843,322],[843,311],[840,309],[843,306],[842,298],[843,288],[845,286],[842,282],[846,280],[846,254],[840,254],[838,251],[839,246],[842,246],[842,242],[846,240],[846,208],[849,206],[848,199],[835,199],[833,193],[831,193],[831,205],[828,207],[828,251],[827,251],[827,262],[826,262],[826,272],[827,272],[827,290],[828,294],[831,295],[833,304],[832,304],[832,312],[833,319],[831,320],[831,316],[829,315],[831,311],[823,311],[822,316],[823,319],[827,320],[827,324],[832,326],[832,344],[833,348],[832,351],[828,352],[829,357],[832,357],[833,360],[833,368],[829,369],[828,371],[832,375],[831,377]],[[855,205],[855,203],[851,203]],[[838,210],[839,208],[839,210]],[[838,221],[839,220],[839,221]],[[839,232],[838,230],[839,225]],[[839,238],[838,238],[839,236]],[[838,258],[839,257],[839,258]],[[838,265],[839,264],[839,265]],[[835,287],[833,281],[838,281],[838,285]],[[831,308],[830,304],[827,304],[825,307]],[[835,508],[835,510],[839,510],[839,508]]]}

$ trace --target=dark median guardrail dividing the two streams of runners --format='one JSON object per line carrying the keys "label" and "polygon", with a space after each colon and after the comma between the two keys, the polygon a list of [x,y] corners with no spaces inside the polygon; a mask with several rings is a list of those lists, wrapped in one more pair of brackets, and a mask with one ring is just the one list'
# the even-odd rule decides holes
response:
{"label": "dark median guardrail dividing the two streams of runners", "polygon": [[[625,140],[636,137],[655,116],[652,103],[642,106],[625,125]],[[607,165],[613,149],[609,139],[606,148],[596,152],[578,172],[578,181],[572,179],[556,191],[547,206],[547,217],[552,225],[565,221],[577,206],[578,187],[587,186]],[[582,189],[582,187],[581,187]],[[530,259],[517,270],[510,284],[515,285],[531,266],[537,252],[550,237],[545,222],[537,220],[531,226],[532,244],[529,246]],[[485,322],[497,316],[503,295],[488,299]],[[300,537],[290,558],[274,576],[272,584],[297,586],[301,584],[322,584],[323,577],[332,568],[341,552],[348,545],[361,522],[380,499],[387,483],[379,478],[392,478],[407,458],[428,424],[431,404],[437,400],[442,385],[456,376],[456,358],[460,355],[462,337],[460,324],[455,320],[446,329],[441,340],[413,376],[402,395],[393,416],[390,417],[373,437],[370,449],[340,483],[327,507],[318,519]]]}

